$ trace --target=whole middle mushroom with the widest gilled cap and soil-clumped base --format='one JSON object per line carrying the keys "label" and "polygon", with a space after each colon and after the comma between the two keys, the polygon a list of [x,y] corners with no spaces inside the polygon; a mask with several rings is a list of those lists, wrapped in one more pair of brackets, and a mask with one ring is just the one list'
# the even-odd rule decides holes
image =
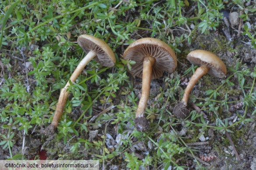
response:
{"label": "whole middle mushroom with the widest gilled cap and soil-clumped base", "polygon": [[176,55],[163,41],[141,38],[126,48],[123,58],[136,62],[132,65],[130,73],[142,78],[142,94],[135,116],[135,125],[137,130],[145,131],[149,127],[144,112],[149,98],[151,79],[160,78],[163,71],[174,71],[177,66]]}

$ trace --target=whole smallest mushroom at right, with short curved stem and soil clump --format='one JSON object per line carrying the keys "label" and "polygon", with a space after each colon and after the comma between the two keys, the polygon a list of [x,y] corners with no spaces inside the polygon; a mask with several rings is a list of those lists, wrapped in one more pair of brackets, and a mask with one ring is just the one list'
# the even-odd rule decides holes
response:
{"label": "whole smallest mushroom at right, with short curved stem and soil clump", "polygon": [[186,109],[188,105],[189,94],[196,84],[196,82],[206,73],[209,75],[223,78],[227,74],[227,68],[224,62],[215,54],[204,50],[191,51],[187,59],[194,65],[200,65],[192,75],[189,83],[185,89],[181,102],[176,104],[173,108],[173,114],[177,118],[184,119],[188,116],[189,111]]}

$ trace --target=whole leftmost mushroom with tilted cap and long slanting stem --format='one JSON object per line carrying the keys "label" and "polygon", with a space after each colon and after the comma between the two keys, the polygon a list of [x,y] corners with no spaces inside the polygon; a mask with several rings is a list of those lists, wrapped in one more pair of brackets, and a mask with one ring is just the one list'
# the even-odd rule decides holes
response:
{"label": "whole leftmost mushroom with tilted cap and long slanting stem", "polygon": [[[95,58],[95,60],[98,61],[100,64],[107,67],[112,67],[115,65],[116,63],[115,55],[112,49],[109,47],[109,45],[105,43],[105,41],[102,41],[101,39],[93,37],[91,35],[80,35],[77,38],[77,42],[81,46],[81,48],[84,51],[86,51],[88,54],[80,61],[80,63],[77,65],[77,68],[71,75],[70,77],[71,83],[74,83],[74,81],[83,71],[84,67],[93,58]],[[56,106],[55,114],[53,116],[52,124],[48,127],[48,130],[49,130],[48,133],[53,133],[56,127],[58,126],[58,122],[60,120],[64,106],[67,101],[67,97],[69,95],[67,88],[70,86],[70,82],[68,81],[65,87],[61,89],[60,97]]]}

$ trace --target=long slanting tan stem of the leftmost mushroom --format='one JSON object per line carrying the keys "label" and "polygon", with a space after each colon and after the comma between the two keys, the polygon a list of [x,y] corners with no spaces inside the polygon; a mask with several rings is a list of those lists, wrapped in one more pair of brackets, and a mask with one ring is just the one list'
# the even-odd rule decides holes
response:
{"label": "long slanting tan stem of the leftmost mushroom", "polygon": [[67,101],[67,97],[69,95],[69,92],[67,91],[67,88],[70,86],[70,82],[74,83],[74,81],[77,79],[77,77],[81,74],[84,67],[90,62],[93,58],[96,57],[95,51],[90,51],[77,65],[77,68],[73,72],[73,74],[70,77],[70,81],[67,82],[64,88],[61,89],[60,97],[56,106],[55,114],[53,116],[52,126],[55,128],[58,126],[58,122],[60,120],[60,117],[62,115],[64,106]]}

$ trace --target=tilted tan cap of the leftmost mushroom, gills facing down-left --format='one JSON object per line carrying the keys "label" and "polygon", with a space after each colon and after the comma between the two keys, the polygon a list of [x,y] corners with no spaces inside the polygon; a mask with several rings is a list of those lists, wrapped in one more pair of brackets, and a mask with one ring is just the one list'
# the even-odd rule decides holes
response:
{"label": "tilted tan cap of the leftmost mushroom, gills facing down-left", "polygon": [[106,67],[113,67],[116,63],[115,54],[105,41],[91,35],[80,35],[77,38],[78,44],[87,53],[95,51],[95,60]]}

